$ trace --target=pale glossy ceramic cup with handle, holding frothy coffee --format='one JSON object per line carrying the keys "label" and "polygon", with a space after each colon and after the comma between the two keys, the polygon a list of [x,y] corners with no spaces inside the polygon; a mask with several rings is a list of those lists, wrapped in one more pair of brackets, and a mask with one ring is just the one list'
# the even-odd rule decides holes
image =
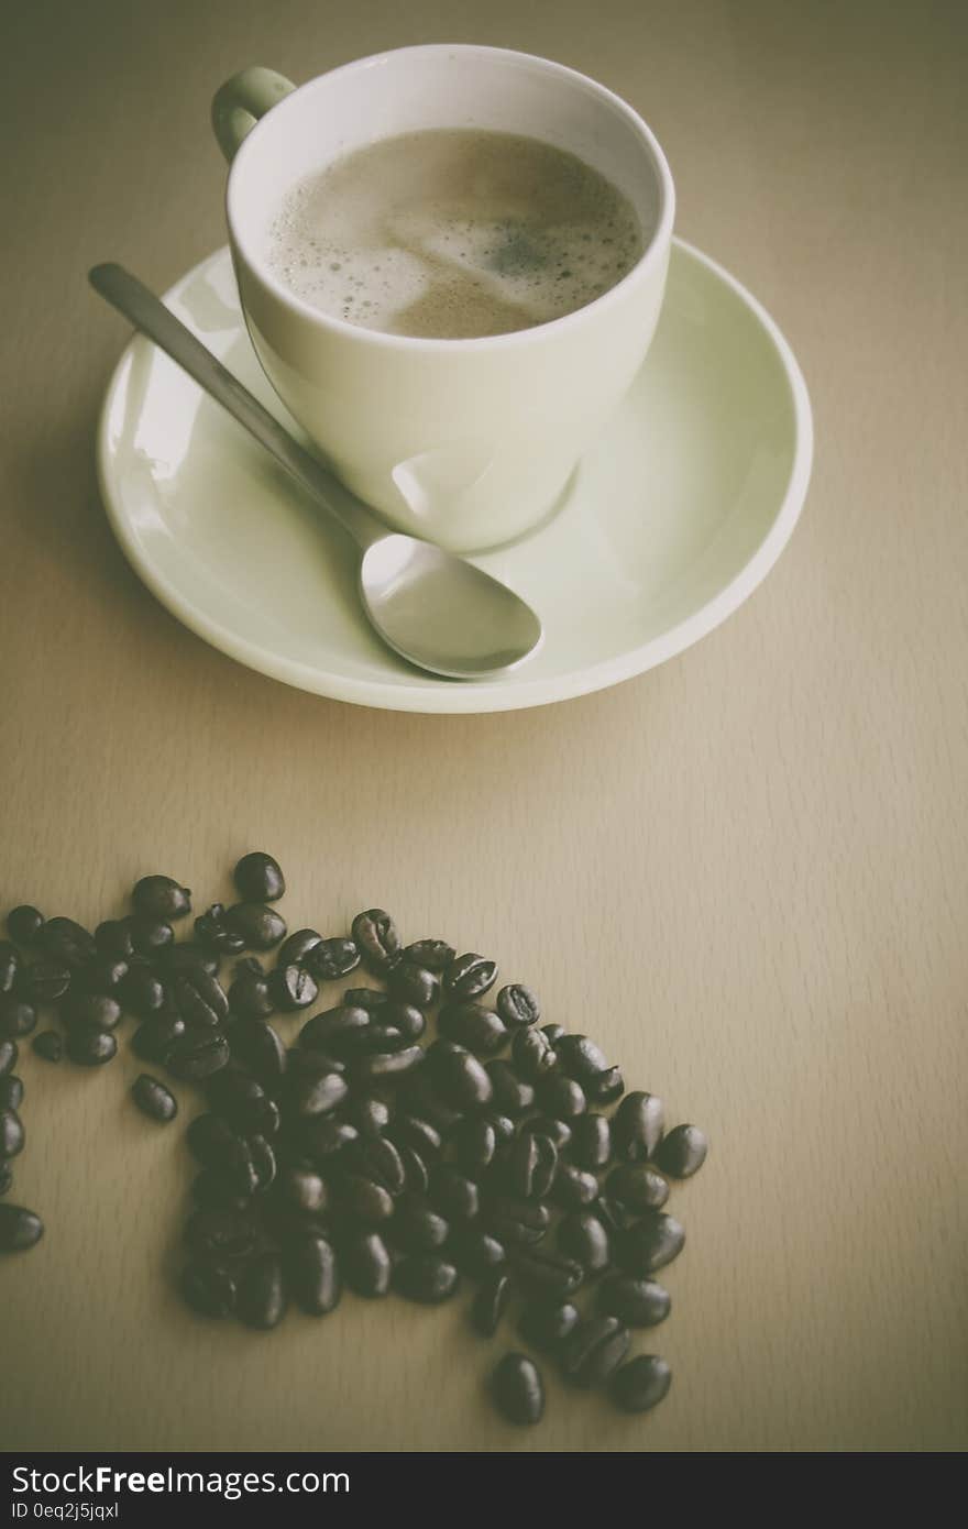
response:
{"label": "pale glossy ceramic cup with handle, holding frothy coffee", "polygon": [[[343,482],[398,529],[454,550],[541,521],[639,370],[673,232],[673,179],[645,122],[604,86],[495,47],[404,47],[295,89],[266,69],[213,102],[231,159],[228,228],[242,307],[275,391]],[[482,339],[382,335],[287,291],[268,263],[284,191],[376,139],[495,128],[570,150],[655,232],[615,287],[564,318]]]}

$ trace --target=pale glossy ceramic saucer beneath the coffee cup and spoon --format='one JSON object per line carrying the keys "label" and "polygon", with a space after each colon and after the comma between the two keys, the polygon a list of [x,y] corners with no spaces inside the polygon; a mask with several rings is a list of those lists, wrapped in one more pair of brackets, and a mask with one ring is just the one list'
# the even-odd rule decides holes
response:
{"label": "pale glossy ceramic saucer beneath the coffee cup and spoon", "polygon": [[[228,251],[165,301],[295,431],[249,344]],[[98,442],[115,535],[179,621],[274,679],[399,711],[537,706],[681,653],[778,558],[810,456],[807,391],[777,326],[720,266],[676,242],[645,365],[561,511],[474,560],[531,601],[544,645],[503,679],[460,683],[421,674],[378,642],[341,534],[141,336],[112,378]]]}

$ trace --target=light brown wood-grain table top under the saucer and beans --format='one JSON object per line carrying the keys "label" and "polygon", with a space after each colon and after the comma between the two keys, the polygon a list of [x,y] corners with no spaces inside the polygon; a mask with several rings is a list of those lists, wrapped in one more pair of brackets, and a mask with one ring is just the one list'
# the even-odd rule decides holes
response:
{"label": "light brown wood-grain table top under the saucer and beans", "polygon": [[[203,1324],[168,1271],[191,1168],[24,1047],[0,1268],[8,1449],[960,1449],[968,780],[965,8],[951,0],[34,0],[6,18],[0,901],[96,922],[142,873],[229,893],[271,849],[292,928],[391,908],[531,982],[673,1119],[688,1246],[629,1419],[549,1382],[489,1411],[465,1303]],[[93,431],[124,324],[223,242],[213,89],[417,41],[573,64],[633,102],[677,231],[777,317],[817,460],[775,572],[615,690],[422,717],[320,700],[182,630],[115,546]],[[295,1021],[286,1029],[295,1029]],[[11,1384],[11,1376],[17,1384]]]}

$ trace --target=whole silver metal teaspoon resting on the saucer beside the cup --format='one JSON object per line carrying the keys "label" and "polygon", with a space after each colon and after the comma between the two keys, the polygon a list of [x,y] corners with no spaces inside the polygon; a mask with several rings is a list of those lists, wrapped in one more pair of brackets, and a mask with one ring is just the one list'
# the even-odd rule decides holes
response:
{"label": "whole silver metal teaspoon resting on the saucer beside the cup", "polygon": [[245,425],[349,532],[362,552],[362,609],[395,653],[443,679],[486,679],[523,664],[537,651],[543,631],[531,605],[465,558],[431,541],[388,531],[124,266],[95,266],[89,280]]}

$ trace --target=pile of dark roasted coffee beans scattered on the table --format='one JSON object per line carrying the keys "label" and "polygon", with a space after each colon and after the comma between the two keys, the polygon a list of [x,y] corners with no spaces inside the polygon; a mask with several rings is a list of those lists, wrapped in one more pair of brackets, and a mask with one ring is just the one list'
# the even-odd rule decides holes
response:
{"label": "pile of dark roasted coffee beans scattered on the table", "polygon": [[[404,945],[382,908],[349,936],[291,934],[275,907],[283,872],[261,852],[234,882],[240,901],[208,907],[182,940],[191,893],[170,876],[142,878],[132,913],[93,934],[28,905],[9,913],[0,1196],[24,1145],[17,1046],[38,1011],[58,1027],[34,1034],[34,1050],[83,1067],[116,1055],[130,1015],[151,1069],[132,1089],[138,1109],[165,1124],[174,1086],[205,1099],[187,1127],[197,1173],[180,1292],[193,1310],[271,1329],[289,1304],[327,1315],[344,1289],[433,1306],[469,1281],[483,1336],[514,1316],[570,1385],[607,1388],[625,1411],[662,1401],[668,1365],[629,1359],[632,1329],[668,1315],[655,1275],[685,1242],[670,1180],[702,1167],[703,1133],[665,1131],[662,1101],[625,1093],[587,1035],[540,1024],[537,995],[497,988],[494,960],[439,939]],[[317,1009],[320,986],[358,968],[358,985]],[[300,1011],[315,1012],[284,1044],[277,1017]],[[34,1211],[0,1203],[0,1251],[41,1234]],[[505,1355],[491,1391],[509,1422],[544,1411],[526,1353]]]}

